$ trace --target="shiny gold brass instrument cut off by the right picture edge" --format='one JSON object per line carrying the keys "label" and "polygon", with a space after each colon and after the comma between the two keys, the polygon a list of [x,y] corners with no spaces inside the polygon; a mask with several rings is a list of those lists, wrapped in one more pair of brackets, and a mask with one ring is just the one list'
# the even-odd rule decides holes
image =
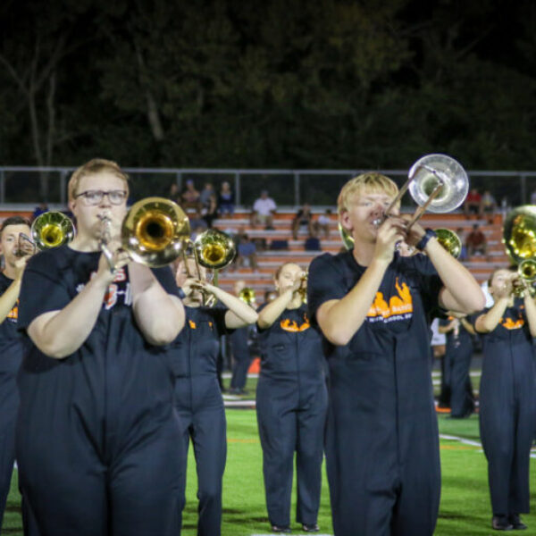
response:
{"label": "shiny gold brass instrument cut off by the right picture edge", "polygon": [[[507,214],[503,242],[508,257],[517,264],[518,276],[525,283],[536,281],[536,206],[518,206]],[[515,289],[516,296],[521,294],[523,288]]]}

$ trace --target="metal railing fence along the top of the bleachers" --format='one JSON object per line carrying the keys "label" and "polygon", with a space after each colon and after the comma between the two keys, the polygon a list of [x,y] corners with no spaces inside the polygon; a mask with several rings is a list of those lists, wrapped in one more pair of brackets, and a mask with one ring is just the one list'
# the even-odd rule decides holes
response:
{"label": "metal railing fence along the top of the bleachers", "polygon": [[[67,182],[71,167],[0,167],[0,205],[35,205],[45,201],[49,205],[67,205]],[[238,206],[249,207],[262,189],[281,206],[336,205],[342,185],[351,177],[368,170],[241,170],[241,169],[180,169],[180,168],[124,168],[130,175],[131,200],[148,196],[167,197],[172,183],[181,189],[186,180],[194,180],[201,190],[205,182],[212,182],[219,190],[223,181],[229,181]],[[401,185],[407,170],[376,170]],[[516,206],[536,200],[536,172],[472,171],[468,172],[471,188],[480,192],[490,190],[498,205]],[[40,199],[42,178],[48,181],[48,193]]]}

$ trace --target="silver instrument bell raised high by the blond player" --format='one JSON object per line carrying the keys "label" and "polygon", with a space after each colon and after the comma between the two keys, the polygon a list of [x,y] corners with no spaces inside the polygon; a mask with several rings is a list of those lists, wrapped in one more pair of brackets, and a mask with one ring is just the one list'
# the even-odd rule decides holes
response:
{"label": "silver instrument bell raised high by the blond player", "polygon": [[439,194],[427,209],[431,213],[448,213],[461,205],[469,191],[465,169],[448,155],[425,155],[409,170],[409,193],[417,205],[423,206],[431,192],[442,183]]}

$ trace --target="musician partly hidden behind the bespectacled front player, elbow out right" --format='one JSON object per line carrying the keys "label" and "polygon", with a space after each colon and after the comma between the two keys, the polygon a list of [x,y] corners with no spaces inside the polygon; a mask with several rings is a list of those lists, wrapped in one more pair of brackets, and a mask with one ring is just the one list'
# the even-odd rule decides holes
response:
{"label": "musician partly hidden behind the bespectacled front player, elbow out right", "polygon": [[[180,459],[181,508],[185,505],[186,465],[191,439],[197,466],[199,513],[197,534],[218,536],[222,525],[222,478],[227,456],[225,409],[218,383],[217,359],[220,337],[232,330],[255,323],[257,314],[239,297],[206,281],[204,266],[199,266],[200,279],[193,258],[181,261],[176,282],[186,295],[184,330],[172,345],[175,373],[175,407],[182,430]],[[221,306],[206,306],[214,296]]]}

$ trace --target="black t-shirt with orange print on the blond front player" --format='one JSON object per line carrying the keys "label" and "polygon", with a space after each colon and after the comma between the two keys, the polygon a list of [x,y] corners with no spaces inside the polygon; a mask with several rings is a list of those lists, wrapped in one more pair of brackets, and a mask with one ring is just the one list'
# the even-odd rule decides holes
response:
{"label": "black t-shirt with orange print on the blond front player", "polygon": [[[365,269],[357,264],[352,251],[324,254],[314,259],[307,283],[307,303],[314,324],[317,323],[318,307],[326,301],[345,297]],[[395,253],[363,325],[348,345],[334,347],[327,343],[328,357],[347,355],[348,352],[353,355],[360,352],[385,354],[391,351],[397,334],[409,331],[422,338],[423,345],[428,347],[428,319],[431,311],[440,309],[438,297],[442,287],[443,283],[426,255],[402,257]],[[416,322],[419,323],[417,331]],[[419,351],[418,348],[415,351]]]}

